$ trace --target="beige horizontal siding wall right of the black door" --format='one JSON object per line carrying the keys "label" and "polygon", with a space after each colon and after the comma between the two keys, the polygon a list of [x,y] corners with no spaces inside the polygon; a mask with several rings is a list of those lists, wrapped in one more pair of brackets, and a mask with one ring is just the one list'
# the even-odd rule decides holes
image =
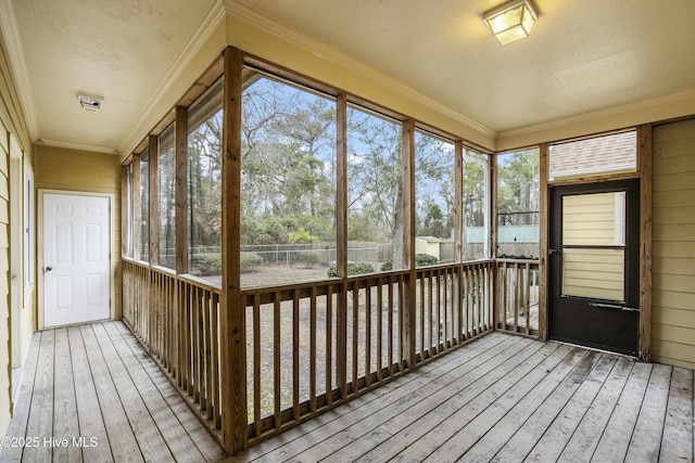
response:
{"label": "beige horizontal siding wall right of the black door", "polygon": [[653,359],[695,369],[695,119],[654,129]]}

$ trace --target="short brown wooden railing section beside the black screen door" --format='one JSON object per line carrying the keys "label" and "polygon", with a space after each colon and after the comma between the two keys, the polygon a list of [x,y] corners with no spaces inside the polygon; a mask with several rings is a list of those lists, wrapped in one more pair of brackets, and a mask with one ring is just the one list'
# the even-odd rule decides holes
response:
{"label": "short brown wooden railing section beside the black screen door", "polygon": [[539,261],[497,259],[497,330],[539,334]]}

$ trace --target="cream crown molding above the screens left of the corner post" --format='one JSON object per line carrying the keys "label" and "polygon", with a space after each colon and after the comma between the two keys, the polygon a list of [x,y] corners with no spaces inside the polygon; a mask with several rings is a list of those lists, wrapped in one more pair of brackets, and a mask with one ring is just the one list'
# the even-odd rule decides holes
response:
{"label": "cream crown molding above the screens left of the corner post", "polygon": [[190,40],[184,47],[176,61],[169,67],[160,85],[152,91],[151,97],[142,105],[142,110],[135,117],[130,127],[126,130],[122,142],[116,146],[118,153],[128,155],[127,150],[137,145],[143,137],[142,127],[164,95],[177,82],[184,70],[198,55],[203,46],[210,40],[217,27],[227,18],[227,13],[220,0],[215,1],[207,16],[200,24]]}

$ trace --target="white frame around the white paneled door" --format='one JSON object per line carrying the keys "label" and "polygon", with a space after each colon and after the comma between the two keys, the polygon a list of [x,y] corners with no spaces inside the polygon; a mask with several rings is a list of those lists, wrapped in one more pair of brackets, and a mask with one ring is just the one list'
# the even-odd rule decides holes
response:
{"label": "white frame around the white paneled door", "polygon": [[39,189],[37,193],[37,227],[36,227],[36,287],[37,287],[37,307],[38,307],[38,329],[43,330],[46,324],[43,322],[43,267],[46,267],[45,256],[43,256],[43,239],[46,236],[45,223],[43,223],[43,201],[45,195],[47,194],[62,194],[62,195],[72,195],[72,196],[96,196],[96,197],[108,197],[109,198],[109,232],[110,243],[109,243],[109,261],[110,261],[110,275],[109,275],[109,318],[114,319],[116,314],[116,304],[115,304],[115,294],[116,294],[116,271],[115,271],[115,253],[116,253],[116,230],[114,222],[114,201],[115,195],[112,193],[99,193],[91,191],[72,191],[72,190],[51,190],[51,189]]}

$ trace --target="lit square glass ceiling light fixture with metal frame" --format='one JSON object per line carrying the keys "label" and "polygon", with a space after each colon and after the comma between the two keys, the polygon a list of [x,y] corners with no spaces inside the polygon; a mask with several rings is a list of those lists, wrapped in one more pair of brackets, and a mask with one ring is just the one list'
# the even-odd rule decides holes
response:
{"label": "lit square glass ceiling light fixture with metal frame", "polygon": [[529,37],[538,18],[532,0],[511,0],[482,14],[482,21],[503,46]]}

